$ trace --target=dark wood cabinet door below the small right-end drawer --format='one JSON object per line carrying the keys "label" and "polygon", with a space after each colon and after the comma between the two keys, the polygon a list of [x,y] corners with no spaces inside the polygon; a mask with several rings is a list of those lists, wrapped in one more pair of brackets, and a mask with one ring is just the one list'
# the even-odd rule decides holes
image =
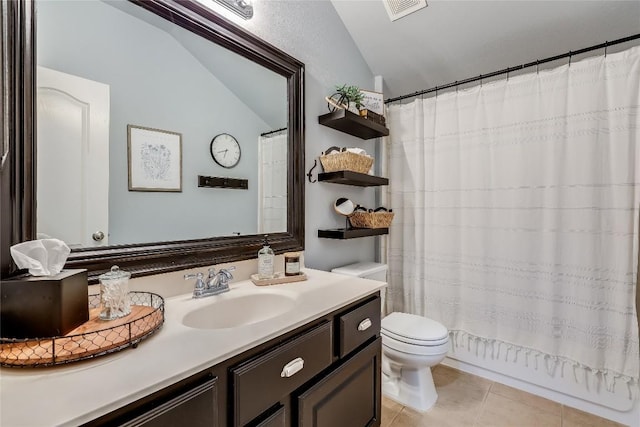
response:
{"label": "dark wood cabinet door below the small right-end drawer", "polygon": [[380,425],[381,338],[298,396],[299,427]]}

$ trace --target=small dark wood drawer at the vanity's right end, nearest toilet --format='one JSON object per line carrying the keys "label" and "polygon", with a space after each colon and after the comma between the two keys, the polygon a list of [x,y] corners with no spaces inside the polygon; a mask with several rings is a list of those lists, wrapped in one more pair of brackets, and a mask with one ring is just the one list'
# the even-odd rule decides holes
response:
{"label": "small dark wood drawer at the vanity's right end, nearest toilet", "polygon": [[339,356],[351,353],[380,333],[380,298],[339,316]]}

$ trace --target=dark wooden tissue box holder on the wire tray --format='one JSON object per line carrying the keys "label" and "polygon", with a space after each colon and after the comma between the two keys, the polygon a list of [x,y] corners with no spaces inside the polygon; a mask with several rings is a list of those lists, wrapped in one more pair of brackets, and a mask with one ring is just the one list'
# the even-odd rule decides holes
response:
{"label": "dark wooden tissue box holder on the wire tray", "polygon": [[0,337],[50,338],[89,320],[87,270],[0,282]]}

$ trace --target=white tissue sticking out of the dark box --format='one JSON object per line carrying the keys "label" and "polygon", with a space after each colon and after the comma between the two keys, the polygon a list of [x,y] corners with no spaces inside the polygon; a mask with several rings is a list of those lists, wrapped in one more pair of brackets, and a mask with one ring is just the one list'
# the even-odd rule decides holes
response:
{"label": "white tissue sticking out of the dark box", "polygon": [[18,268],[28,268],[32,276],[54,276],[64,267],[71,249],[62,240],[41,239],[18,243],[10,248]]}

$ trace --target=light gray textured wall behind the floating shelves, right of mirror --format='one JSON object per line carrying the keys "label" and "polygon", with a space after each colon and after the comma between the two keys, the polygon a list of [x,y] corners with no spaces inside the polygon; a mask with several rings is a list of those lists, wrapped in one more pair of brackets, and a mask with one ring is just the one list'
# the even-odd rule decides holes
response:
{"label": "light gray textured wall behind the floating shelves, right of mirror", "polygon": [[[251,20],[231,19],[305,63],[305,172],[332,145],[360,147],[374,153],[377,140],[364,141],[318,124],[318,116],[328,112],[324,97],[334,92],[335,85],[347,83],[373,89],[374,83],[373,74],[330,1],[254,2]],[[319,171],[322,168],[318,161],[314,178]],[[361,205],[375,207],[375,189],[310,184],[306,177],[305,181],[305,264],[329,270],[351,262],[373,261],[374,237],[331,240],[317,236],[319,228],[344,227],[344,218],[333,211],[336,198],[349,197]]]}

